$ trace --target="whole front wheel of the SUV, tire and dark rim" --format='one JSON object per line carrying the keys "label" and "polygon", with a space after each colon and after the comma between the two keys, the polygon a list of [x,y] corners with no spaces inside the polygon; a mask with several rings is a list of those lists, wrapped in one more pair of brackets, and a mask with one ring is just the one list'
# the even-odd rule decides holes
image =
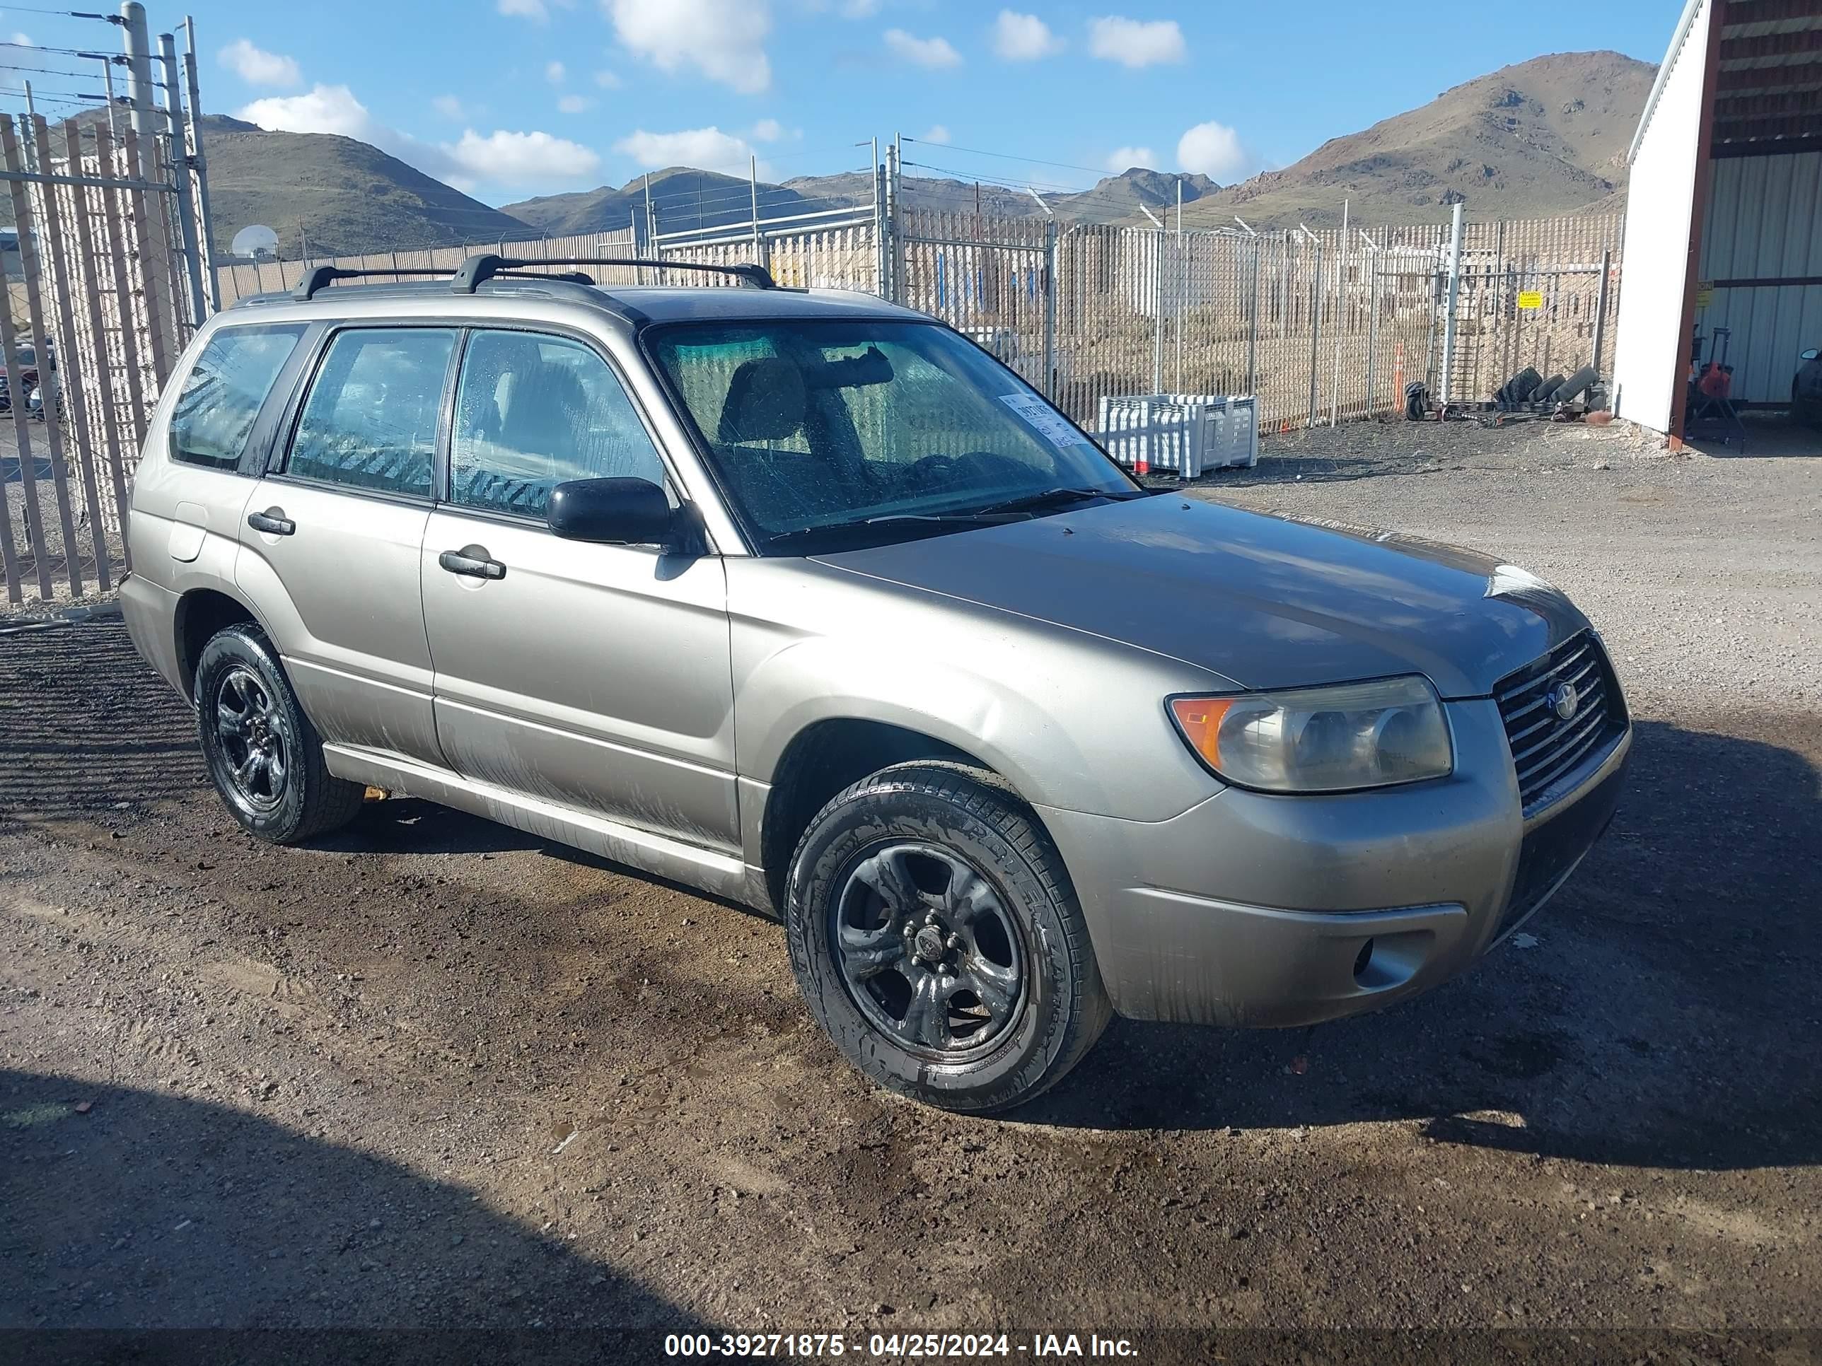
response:
{"label": "whole front wheel of the SUV, tire and dark rim", "polygon": [[798,843],[785,929],[847,1060],[944,1109],[1031,1100],[1111,1014],[1062,858],[978,769],[902,763],[836,794]]}

